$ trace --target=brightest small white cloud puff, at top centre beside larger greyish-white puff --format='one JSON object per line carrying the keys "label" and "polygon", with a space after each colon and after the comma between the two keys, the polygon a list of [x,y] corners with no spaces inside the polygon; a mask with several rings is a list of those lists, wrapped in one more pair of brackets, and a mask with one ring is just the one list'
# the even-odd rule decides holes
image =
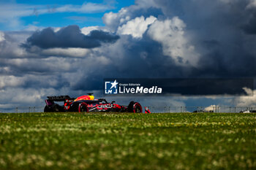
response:
{"label": "brightest small white cloud puff, at top centre beside larger greyish-white puff", "polygon": [[118,27],[118,34],[127,34],[132,35],[134,38],[141,38],[145,31],[148,29],[148,25],[154,23],[157,18],[150,16],[148,18],[144,18],[141,16],[140,18],[135,18],[133,20],[129,20],[123,26]]}

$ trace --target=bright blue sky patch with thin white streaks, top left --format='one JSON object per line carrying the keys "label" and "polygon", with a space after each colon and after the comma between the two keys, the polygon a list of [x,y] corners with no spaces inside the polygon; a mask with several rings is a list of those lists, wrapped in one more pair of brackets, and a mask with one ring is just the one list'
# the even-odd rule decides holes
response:
{"label": "bright blue sky patch with thin white streaks, top left", "polygon": [[0,30],[23,30],[29,26],[63,27],[74,24],[80,28],[104,26],[102,17],[106,12],[118,12],[122,7],[134,3],[134,0],[3,0],[0,2],[5,8],[2,13],[7,16],[0,16]]}

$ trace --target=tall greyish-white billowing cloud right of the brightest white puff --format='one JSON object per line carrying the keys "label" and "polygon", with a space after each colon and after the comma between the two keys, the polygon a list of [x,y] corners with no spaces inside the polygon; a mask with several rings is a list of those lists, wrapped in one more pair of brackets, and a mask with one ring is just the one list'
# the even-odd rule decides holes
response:
{"label": "tall greyish-white billowing cloud right of the brightest white puff", "polygon": [[198,54],[189,45],[184,28],[186,24],[178,17],[171,20],[156,20],[148,28],[148,35],[162,44],[163,53],[173,58],[178,65],[197,66]]}

